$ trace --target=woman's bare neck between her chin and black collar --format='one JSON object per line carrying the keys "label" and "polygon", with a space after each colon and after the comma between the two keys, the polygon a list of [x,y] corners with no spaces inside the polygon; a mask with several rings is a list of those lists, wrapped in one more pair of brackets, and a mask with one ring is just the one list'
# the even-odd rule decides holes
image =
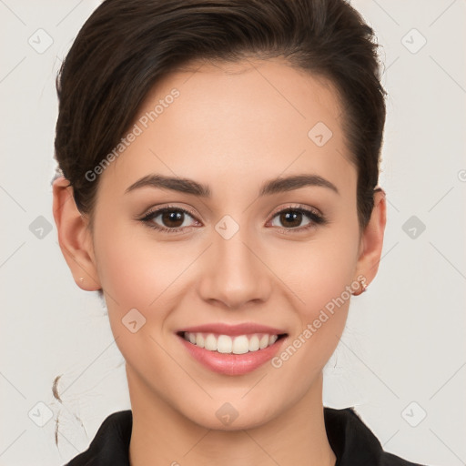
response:
{"label": "woman's bare neck between her chin and black collar", "polygon": [[236,431],[208,429],[187,419],[128,373],[133,412],[131,466],[334,466],[325,430],[322,375],[294,405],[267,423]]}

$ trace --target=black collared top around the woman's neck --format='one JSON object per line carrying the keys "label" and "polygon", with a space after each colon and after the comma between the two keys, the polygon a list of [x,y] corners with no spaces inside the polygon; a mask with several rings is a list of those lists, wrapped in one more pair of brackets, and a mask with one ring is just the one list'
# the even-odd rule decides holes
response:
{"label": "black collared top around the woman's neck", "polygon": [[[353,408],[324,407],[324,421],[335,466],[422,466],[383,451],[380,441]],[[65,466],[129,466],[129,441],[133,427],[131,410],[110,414],[83,453]]]}

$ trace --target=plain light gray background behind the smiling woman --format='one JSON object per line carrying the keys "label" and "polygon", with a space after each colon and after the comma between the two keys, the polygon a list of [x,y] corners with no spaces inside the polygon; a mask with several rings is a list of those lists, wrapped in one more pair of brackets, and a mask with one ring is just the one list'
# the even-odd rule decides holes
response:
{"label": "plain light gray background behind the smiling woman", "polygon": [[[130,408],[106,309],[76,287],[52,216],[56,71],[98,4],[0,0],[0,465],[61,465],[108,414]],[[386,451],[466,464],[466,2],[352,4],[383,46],[388,226],[379,274],[352,299],[325,371],[324,403],[355,406]],[[46,50],[39,28],[53,39]],[[39,216],[52,226],[43,238]],[[403,230],[411,216],[425,225],[416,238]],[[57,375],[63,404],[52,396]]]}

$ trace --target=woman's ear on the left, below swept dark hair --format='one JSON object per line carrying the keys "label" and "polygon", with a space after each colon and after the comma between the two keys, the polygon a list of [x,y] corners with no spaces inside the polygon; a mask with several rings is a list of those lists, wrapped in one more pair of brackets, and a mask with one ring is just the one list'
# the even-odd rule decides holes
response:
{"label": "woman's ear on the left, below swept dark hair", "polygon": [[73,187],[65,177],[57,177],[53,194],[58,243],[76,285],[87,291],[101,289],[89,220],[76,207]]}

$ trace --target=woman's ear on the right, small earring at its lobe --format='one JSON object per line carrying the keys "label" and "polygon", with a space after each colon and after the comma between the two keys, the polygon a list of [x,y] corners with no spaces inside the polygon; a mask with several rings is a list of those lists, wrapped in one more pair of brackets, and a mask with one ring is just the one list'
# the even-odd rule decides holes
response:
{"label": "woman's ear on the right, small earring at its lobe", "polygon": [[360,257],[356,266],[356,277],[360,275],[365,277],[366,285],[370,284],[379,269],[386,223],[387,203],[385,191],[378,188],[374,191],[374,208],[372,209],[370,221],[360,238]]}

